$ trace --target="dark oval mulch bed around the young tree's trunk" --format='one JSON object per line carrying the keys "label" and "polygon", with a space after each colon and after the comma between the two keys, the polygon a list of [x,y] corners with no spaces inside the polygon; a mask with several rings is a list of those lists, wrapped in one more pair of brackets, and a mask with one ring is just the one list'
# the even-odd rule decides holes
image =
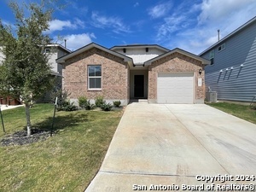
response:
{"label": "dark oval mulch bed around the young tree's trunk", "polygon": [[36,143],[38,141],[44,141],[48,137],[50,137],[50,131],[32,129],[32,135],[30,137],[26,137],[26,131],[22,130],[4,137],[0,141],[0,144],[2,146],[25,145],[30,143]]}

